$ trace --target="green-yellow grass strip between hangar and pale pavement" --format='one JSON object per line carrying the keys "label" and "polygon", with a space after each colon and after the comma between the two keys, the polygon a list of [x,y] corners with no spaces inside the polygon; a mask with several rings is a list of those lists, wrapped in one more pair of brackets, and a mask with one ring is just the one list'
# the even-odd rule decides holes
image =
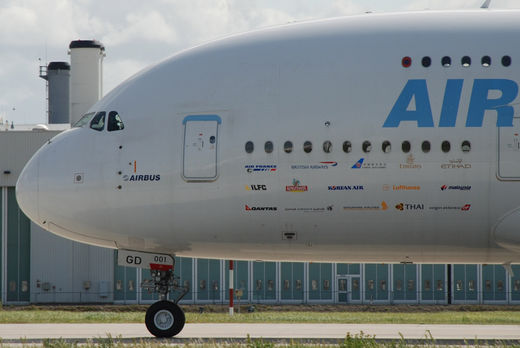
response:
{"label": "green-yellow grass strip between hangar and pale pavement", "polygon": [[[59,310],[0,311],[0,323],[144,323],[144,312]],[[511,324],[520,325],[520,312],[254,312],[186,313],[188,323],[338,323],[338,324]]]}

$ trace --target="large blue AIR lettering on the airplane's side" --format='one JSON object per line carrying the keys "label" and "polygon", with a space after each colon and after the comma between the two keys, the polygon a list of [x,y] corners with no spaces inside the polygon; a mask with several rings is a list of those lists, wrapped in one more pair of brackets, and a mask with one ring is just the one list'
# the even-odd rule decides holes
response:
{"label": "large blue AIR lettering on the airplane's side", "polygon": [[[446,81],[439,127],[455,127],[463,83],[462,79]],[[513,80],[475,79],[466,127],[482,127],[486,110],[496,111],[497,127],[512,127],[514,109],[510,103],[517,96],[518,84]],[[383,127],[399,127],[402,121],[416,122],[417,127],[434,127],[426,80],[408,80]]]}

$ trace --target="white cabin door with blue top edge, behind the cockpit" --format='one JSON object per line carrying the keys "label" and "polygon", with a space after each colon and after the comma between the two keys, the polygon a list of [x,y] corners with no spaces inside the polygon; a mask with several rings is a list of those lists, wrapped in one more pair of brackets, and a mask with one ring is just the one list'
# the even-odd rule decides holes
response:
{"label": "white cabin door with blue top edge, behind the cockpit", "polygon": [[183,120],[184,154],[182,175],[187,181],[213,181],[218,176],[217,115],[191,115]]}

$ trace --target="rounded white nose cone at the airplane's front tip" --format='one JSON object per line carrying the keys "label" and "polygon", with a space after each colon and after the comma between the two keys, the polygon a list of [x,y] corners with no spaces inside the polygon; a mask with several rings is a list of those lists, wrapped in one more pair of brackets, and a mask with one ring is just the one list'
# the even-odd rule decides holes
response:
{"label": "rounded white nose cone at the airplane's front tip", "polygon": [[16,182],[16,200],[22,211],[35,222],[39,222],[38,212],[38,156],[27,162]]}

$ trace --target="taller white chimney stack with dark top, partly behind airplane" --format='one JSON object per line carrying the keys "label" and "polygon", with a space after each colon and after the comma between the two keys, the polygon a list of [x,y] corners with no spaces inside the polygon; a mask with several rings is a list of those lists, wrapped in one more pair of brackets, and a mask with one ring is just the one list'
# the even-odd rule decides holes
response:
{"label": "taller white chimney stack with dark top, partly behind airplane", "polygon": [[76,40],[70,43],[69,49],[70,123],[73,125],[103,96],[105,46],[95,40]]}

